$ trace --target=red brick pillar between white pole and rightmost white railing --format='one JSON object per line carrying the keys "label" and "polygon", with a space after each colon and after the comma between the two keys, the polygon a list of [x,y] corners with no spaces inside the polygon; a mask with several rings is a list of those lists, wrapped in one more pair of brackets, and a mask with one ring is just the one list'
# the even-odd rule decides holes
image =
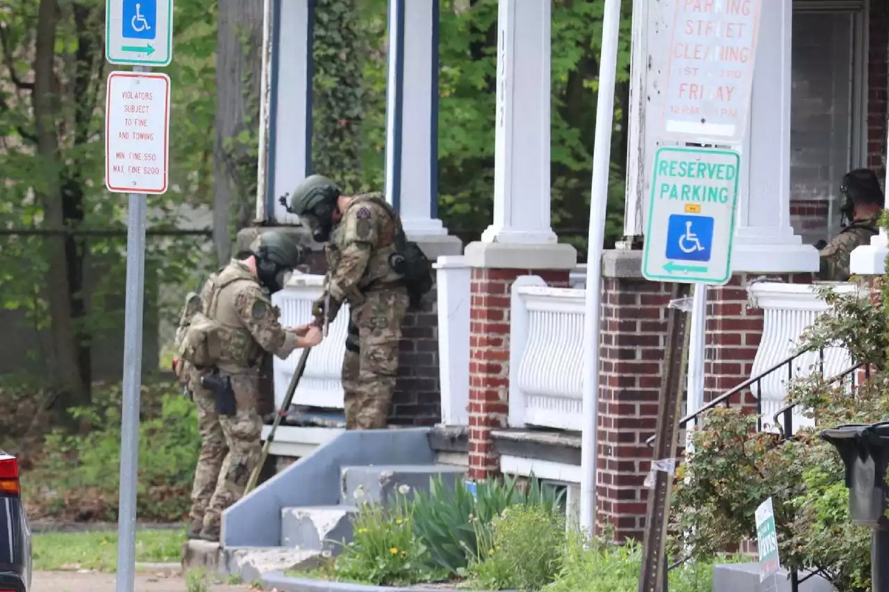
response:
{"label": "red brick pillar between white pole and rightmost white railing", "polygon": [[[811,284],[812,274],[736,274],[724,286],[710,286],[707,291],[707,335],[705,338],[704,401],[737,387],[751,377],[753,359],[763,337],[763,311],[749,302],[747,286],[763,277],[764,281]],[[777,362],[777,361],[776,361]],[[742,398],[743,397],[743,398]],[[756,411],[756,399],[749,388],[732,397],[733,404],[743,403]]]}

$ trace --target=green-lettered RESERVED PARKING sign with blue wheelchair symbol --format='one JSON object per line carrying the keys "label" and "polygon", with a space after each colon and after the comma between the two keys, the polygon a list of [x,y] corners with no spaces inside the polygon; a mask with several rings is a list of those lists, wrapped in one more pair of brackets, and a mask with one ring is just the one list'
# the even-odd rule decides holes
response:
{"label": "green-lettered RESERVED PARKING sign with blue wheelchair symbol", "polygon": [[642,273],[661,282],[726,284],[741,158],[715,148],[660,148]]}

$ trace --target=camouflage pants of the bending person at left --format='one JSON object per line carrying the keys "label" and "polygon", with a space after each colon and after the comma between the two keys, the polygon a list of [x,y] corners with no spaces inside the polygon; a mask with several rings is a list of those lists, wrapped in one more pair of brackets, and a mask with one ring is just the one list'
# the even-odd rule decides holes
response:
{"label": "camouflage pants of the bending person at left", "polygon": [[231,384],[237,411],[225,417],[216,412],[215,397],[201,386],[199,373],[192,372],[191,392],[197,405],[197,428],[202,442],[189,517],[203,519],[205,526],[219,526],[222,511],[244,494],[247,480],[260,460],[262,420],[256,411],[259,376],[235,374]]}

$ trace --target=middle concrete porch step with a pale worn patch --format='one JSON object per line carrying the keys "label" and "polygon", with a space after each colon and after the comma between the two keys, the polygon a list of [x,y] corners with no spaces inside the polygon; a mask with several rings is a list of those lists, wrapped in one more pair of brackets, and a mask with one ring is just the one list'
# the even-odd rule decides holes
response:
{"label": "middle concrete porch step with a pale worn patch", "polygon": [[281,508],[281,546],[339,555],[352,540],[354,506]]}

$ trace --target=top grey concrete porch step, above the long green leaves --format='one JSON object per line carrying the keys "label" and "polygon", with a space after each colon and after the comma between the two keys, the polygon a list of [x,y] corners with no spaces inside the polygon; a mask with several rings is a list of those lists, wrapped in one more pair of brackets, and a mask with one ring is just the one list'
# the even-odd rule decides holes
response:
{"label": "top grey concrete porch step, above the long green leaves", "polygon": [[428,492],[429,480],[433,476],[441,476],[445,487],[453,488],[466,476],[466,468],[444,464],[375,465],[343,467],[340,473],[341,502],[386,504],[395,499],[402,486],[408,488],[408,497],[417,490]]}

